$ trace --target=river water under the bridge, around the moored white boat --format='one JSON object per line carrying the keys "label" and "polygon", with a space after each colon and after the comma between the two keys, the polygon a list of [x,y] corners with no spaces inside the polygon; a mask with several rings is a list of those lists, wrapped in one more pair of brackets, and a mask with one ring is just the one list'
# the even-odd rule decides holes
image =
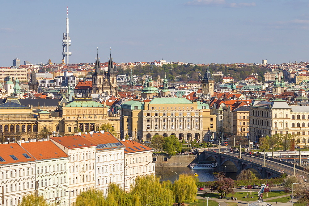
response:
{"label": "river water under the bridge, around the moored white boat", "polygon": [[[213,172],[217,172],[217,169],[195,169],[192,170],[190,167],[168,167],[169,171],[164,175],[163,181],[170,180],[171,182],[174,182],[176,180],[176,174],[179,176],[180,174],[183,173],[188,173],[188,174],[198,174],[198,179],[200,182],[207,182],[207,181],[214,181],[215,177]],[[159,170],[160,168],[156,168],[156,170]],[[173,171],[173,172],[172,172]],[[227,173],[227,177],[230,177],[232,179],[236,178],[236,173]]]}

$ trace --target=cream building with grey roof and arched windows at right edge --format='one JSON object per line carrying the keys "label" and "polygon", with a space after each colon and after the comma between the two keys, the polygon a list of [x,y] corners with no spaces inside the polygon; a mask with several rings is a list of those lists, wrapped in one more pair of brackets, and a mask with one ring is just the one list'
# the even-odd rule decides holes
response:
{"label": "cream building with grey roof and arched windows at right edge", "polygon": [[249,138],[292,134],[295,145],[309,144],[309,106],[290,106],[286,101],[260,101],[250,107]]}

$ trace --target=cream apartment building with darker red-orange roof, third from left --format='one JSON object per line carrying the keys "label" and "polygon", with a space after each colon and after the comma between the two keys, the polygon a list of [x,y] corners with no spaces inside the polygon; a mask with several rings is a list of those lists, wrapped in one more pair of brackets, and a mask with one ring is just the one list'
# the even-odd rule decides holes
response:
{"label": "cream apartment building with darker red-orange roof, third from left", "polygon": [[95,144],[81,135],[50,138],[70,156],[69,191],[73,203],[81,192],[95,188]]}

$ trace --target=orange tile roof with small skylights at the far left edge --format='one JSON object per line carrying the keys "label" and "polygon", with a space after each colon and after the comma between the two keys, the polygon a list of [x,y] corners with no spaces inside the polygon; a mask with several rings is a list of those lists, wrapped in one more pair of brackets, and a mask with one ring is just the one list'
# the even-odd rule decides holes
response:
{"label": "orange tile roof with small skylights at the far left edge", "polygon": [[[30,158],[27,159],[22,154],[27,154]],[[14,160],[9,155],[14,155],[17,158],[17,160]],[[4,162],[1,162],[0,160],[0,165],[36,161],[36,159],[32,155],[30,155],[25,149],[23,149],[17,143],[1,144],[0,157],[5,160]]]}

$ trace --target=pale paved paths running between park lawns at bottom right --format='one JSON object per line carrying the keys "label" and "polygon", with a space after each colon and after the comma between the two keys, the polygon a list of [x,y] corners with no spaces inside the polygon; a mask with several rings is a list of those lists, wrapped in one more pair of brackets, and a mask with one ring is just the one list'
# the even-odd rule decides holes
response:
{"label": "pale paved paths running between park lawns at bottom right", "polygon": [[[265,199],[263,199],[264,200],[264,202],[267,204],[267,203],[272,203],[272,205],[276,205],[276,201],[271,201],[271,200],[274,200],[274,199],[277,199],[277,198],[280,198],[280,197],[286,197],[286,195],[282,195],[282,196],[277,196],[277,197],[270,197],[270,198],[265,198]],[[200,200],[203,200],[203,197],[200,197],[200,196],[197,196],[196,197],[197,199],[200,199]],[[248,203],[249,204],[251,204],[251,203],[255,203],[255,202],[257,202],[257,197],[255,197],[255,198],[253,198],[253,199],[255,199],[255,200],[252,200],[252,201],[241,201],[241,200],[228,200],[228,199],[219,199],[219,198],[209,198],[209,200],[214,200],[214,201],[216,201],[216,202],[218,202],[218,203],[220,203],[220,206],[227,206],[227,203],[229,203],[229,202],[237,202],[238,204],[238,206],[245,206],[245,205],[248,205]],[[205,198],[205,201],[206,201],[207,199]],[[294,203],[295,202],[297,202],[298,201],[298,199],[294,199]],[[278,202],[277,203],[277,205],[280,205],[280,206],[290,206],[292,204],[292,200],[290,200],[290,201],[288,201],[287,203],[283,203],[283,202]]]}

